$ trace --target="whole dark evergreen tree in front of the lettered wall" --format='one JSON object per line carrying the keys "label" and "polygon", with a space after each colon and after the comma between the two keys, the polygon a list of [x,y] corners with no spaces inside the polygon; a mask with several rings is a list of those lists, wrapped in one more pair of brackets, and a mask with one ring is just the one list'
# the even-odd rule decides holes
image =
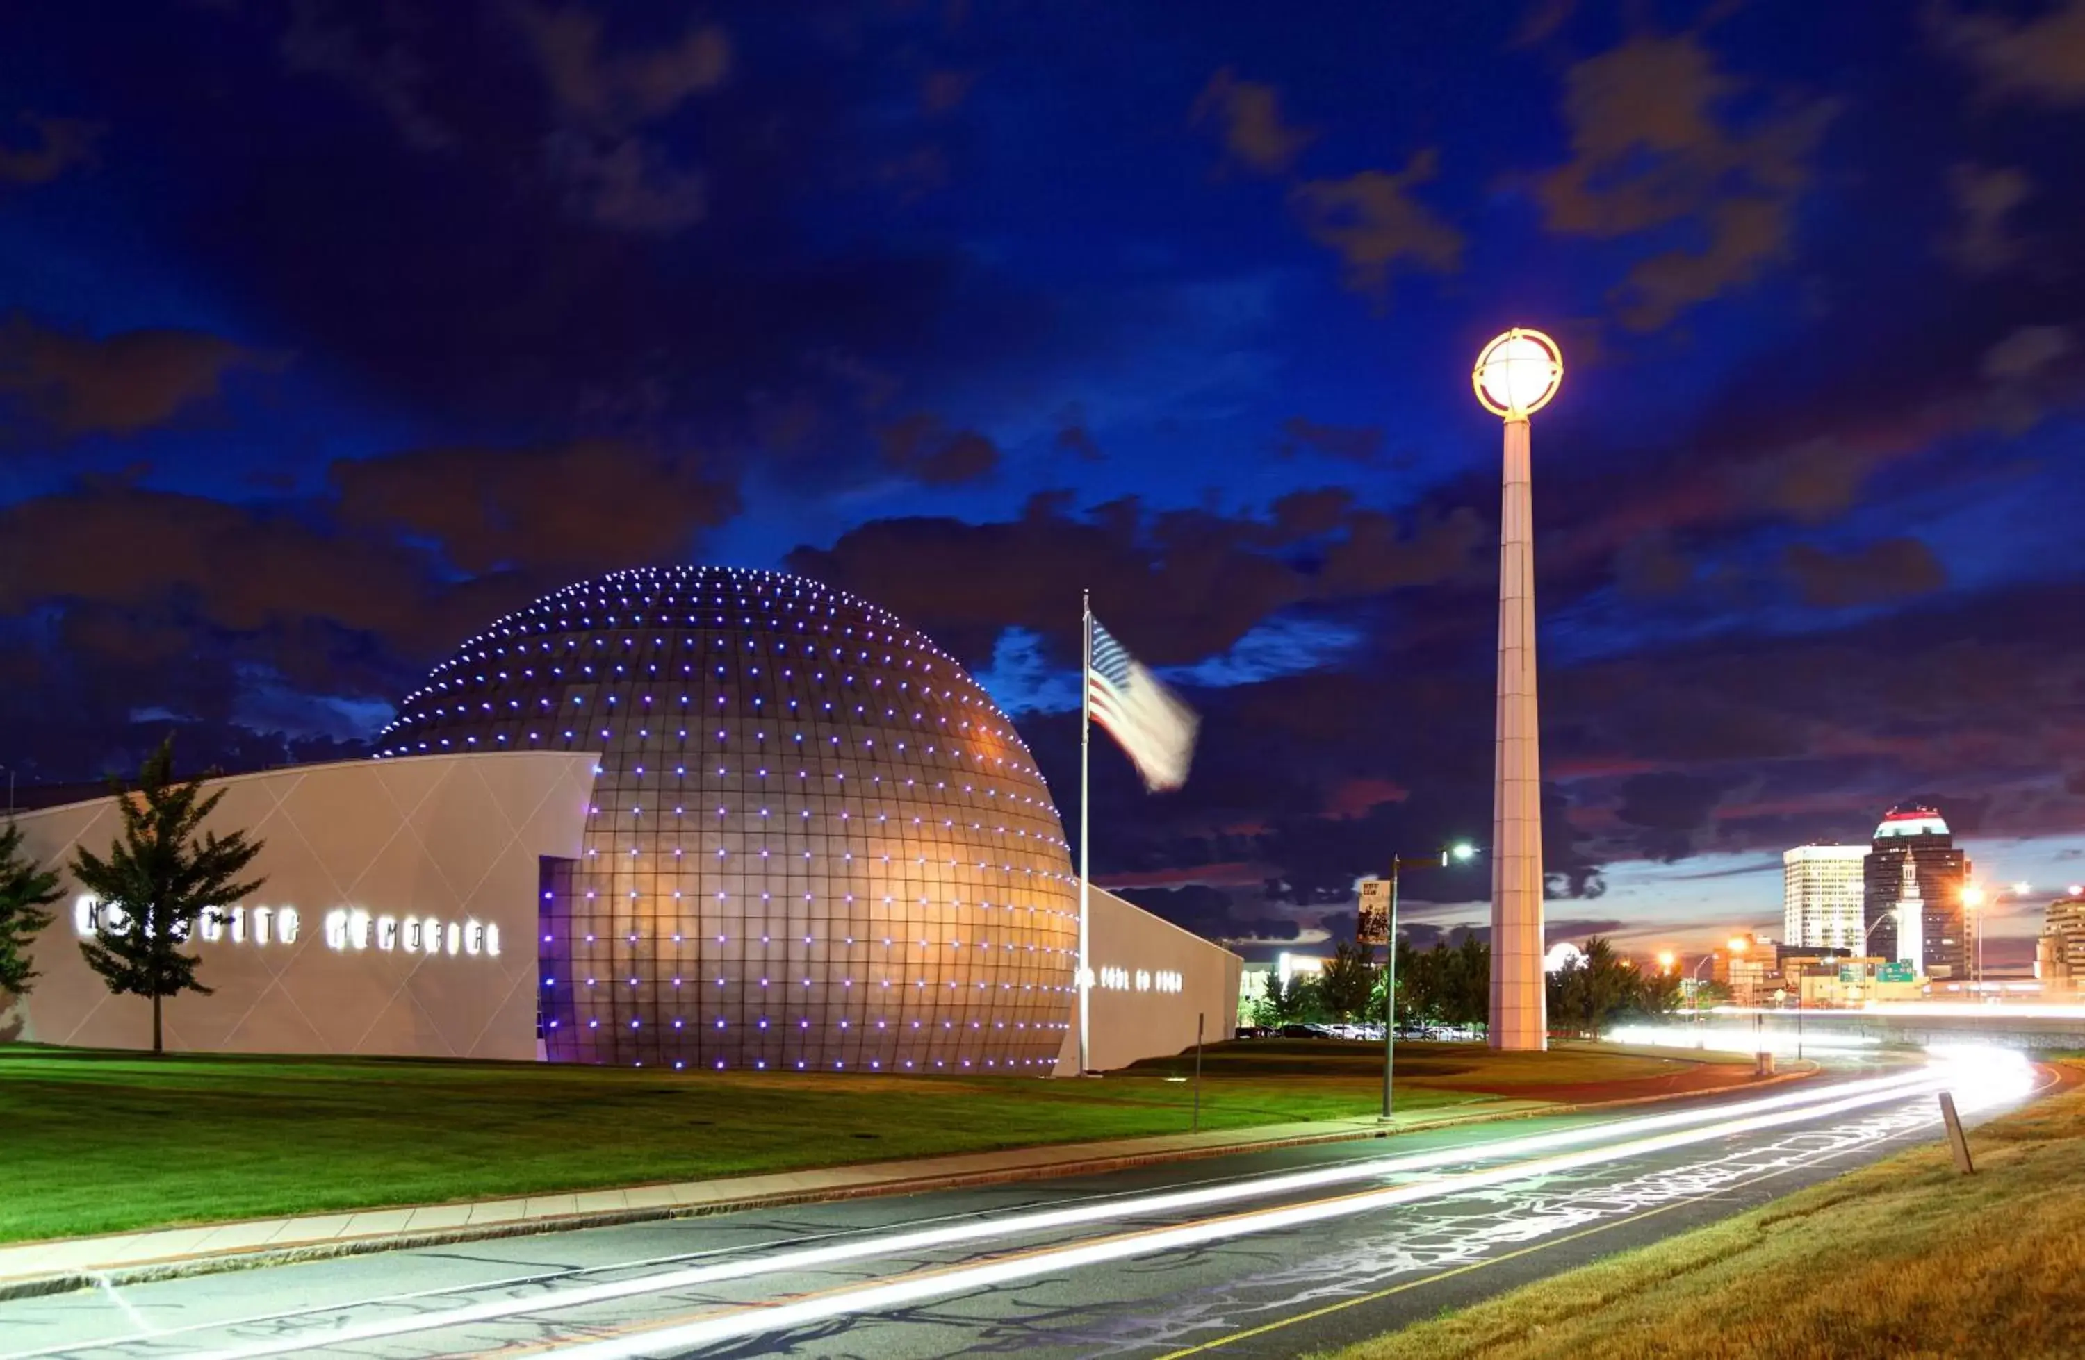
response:
{"label": "whole dark evergreen tree in front of the lettered wall", "polygon": [[106,858],[85,846],[73,854],[73,879],[100,900],[94,943],[81,943],[79,952],[108,991],[152,998],[152,1052],[161,1054],[161,1002],[183,991],[211,993],[196,981],[200,960],[181,946],[204,908],[261,887],[265,879],[238,881],[261,854],[261,841],[248,841],[244,831],[196,837],[225,794],[204,798],[202,779],[173,777],[173,737],[146,758],[136,791],[121,779],[108,787],[123,812],[123,837],[108,846]]}

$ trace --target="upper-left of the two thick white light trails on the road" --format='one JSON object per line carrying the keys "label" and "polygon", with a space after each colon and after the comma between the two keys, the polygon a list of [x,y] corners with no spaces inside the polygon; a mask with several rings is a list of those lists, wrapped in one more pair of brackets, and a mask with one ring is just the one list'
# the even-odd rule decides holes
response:
{"label": "upper-left of the two thick white light trails on the road", "polygon": [[[1209,1185],[1186,1191],[1163,1191],[1155,1195],[1111,1200],[1103,1204],[1080,1204],[1063,1210],[1040,1210],[1032,1214],[982,1218],[936,1229],[919,1229],[909,1233],[890,1233],[880,1237],[853,1239],[821,1248],[776,1252],[769,1256],[755,1256],[749,1260],[690,1266],[684,1270],[665,1270],[659,1275],[646,1275],[628,1281],[611,1281],[600,1285],[584,1285],[578,1289],[559,1289],[544,1293],[542,1298],[536,1300],[496,1300],[496,1302],[467,1304],[463,1308],[415,1314],[404,1318],[357,1323],[332,1331],[315,1331],[309,1337],[271,1337],[267,1341],[213,1350],[206,1354],[211,1360],[259,1360],[263,1356],[286,1356],[325,1345],[352,1345],[361,1341],[375,1341],[417,1331],[467,1327],[475,1323],[496,1323],[505,1318],[530,1316],[563,1308],[582,1308],[590,1304],[636,1298],[644,1293],[692,1289],[723,1281],[753,1279],[761,1275],[813,1270],[819,1266],[832,1266],[874,1256],[899,1256],[909,1252],[924,1252],[924,1250],[961,1245],[972,1241],[990,1241],[1015,1235],[1032,1235],[1065,1227],[1095,1225],[1095,1223],[1124,1223],[1130,1218],[1140,1218],[1151,1214],[1195,1210],[1218,1204],[1230,1204],[1238,1200],[1257,1200],[1299,1189],[1320,1189],[1326,1185],[1339,1185],[1349,1181],[1368,1181],[1405,1173],[1426,1173],[1426,1170],[1439,1170],[1443,1166],[1482,1162],[1495,1158],[1545,1154],[1576,1143],[1597,1143],[1603,1139],[1630,1137],[1655,1129],[1687,1129],[1691,1125],[1708,1125],[1712,1120],[1720,1123],[1714,1123],[1712,1131],[1701,1131],[1695,1137],[1722,1137],[1720,1131],[1724,1131],[1733,1123],[1733,1116],[1737,1116],[1737,1120],[1743,1120],[1747,1116],[1810,1118],[1818,1110],[1839,1108],[1843,1100],[1858,1100],[1858,1102],[1893,1100],[1899,1095],[1939,1089],[1939,1085],[1943,1085],[1939,1068],[1920,1068],[1916,1073],[1854,1081],[1829,1089],[1793,1091],[1785,1095],[1768,1095],[1739,1104],[1672,1110],[1664,1114],[1643,1114],[1608,1125],[1583,1125],[1574,1129],[1557,1129],[1551,1133],[1497,1139],[1487,1143],[1470,1143],[1462,1148],[1443,1148],[1439,1152],[1426,1152],[1401,1158],[1370,1158],[1359,1162],[1347,1162],[1341,1166],[1324,1166],[1305,1173],[1266,1177],[1257,1181]],[[1516,1175],[1535,1175],[1535,1173],[1516,1173]]]}

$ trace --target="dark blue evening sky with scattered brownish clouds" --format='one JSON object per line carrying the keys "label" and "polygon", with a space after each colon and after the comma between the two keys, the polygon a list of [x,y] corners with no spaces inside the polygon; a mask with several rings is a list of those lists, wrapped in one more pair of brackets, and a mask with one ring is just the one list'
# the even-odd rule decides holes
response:
{"label": "dark blue evening sky with scattered brownish clouds", "polygon": [[713,560],[930,631],[1068,804],[1090,585],[1207,714],[1180,796],[1103,758],[1099,877],[1336,929],[1489,823],[1468,367],[1539,325],[1557,933],[1772,925],[1914,796],[2085,877],[2085,0],[0,25],[23,779],[352,754],[490,616]]}

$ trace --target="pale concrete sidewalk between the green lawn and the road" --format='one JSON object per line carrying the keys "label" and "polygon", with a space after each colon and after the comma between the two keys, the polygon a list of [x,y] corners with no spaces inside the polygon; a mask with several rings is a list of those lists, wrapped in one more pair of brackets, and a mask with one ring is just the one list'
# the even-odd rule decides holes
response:
{"label": "pale concrete sidewalk between the green lawn and the road", "polygon": [[196,1227],[152,1229],[140,1233],[108,1233],[100,1237],[63,1237],[25,1241],[0,1248],[0,1300],[63,1293],[100,1283],[140,1283],[179,1275],[206,1275],[259,1264],[352,1256],[359,1252],[390,1252],[450,1241],[517,1237],[523,1233],[555,1233],[584,1227],[613,1227],[657,1218],[721,1214],[746,1208],[855,1200],[865,1195],[919,1193],[963,1185],[995,1185],[1009,1181],[1040,1181],[1047,1177],[1095,1175],[1140,1166],[1211,1158],[1234,1152],[1266,1152],[1309,1143],[1389,1137],[1418,1129],[1522,1118],[1530,1114],[1574,1114],[1595,1108],[1622,1108],[1687,1095],[1716,1095],[1733,1089],[1756,1091],[1783,1081],[1795,1081],[1816,1071],[1787,1071],[1766,1081],[1749,1081],[1722,1091],[1681,1095],[1647,1095],[1612,1102],[1557,1104],[1543,1100],[1482,1100],[1451,1110],[1401,1114],[1391,1125],[1376,1116],[1264,1125],[1257,1129],[1222,1129],[1213,1133],[1174,1133],[1161,1137],[1124,1137],[1090,1143],[1053,1143],[1042,1148],[1011,1148],[1001,1152],[967,1152],[903,1162],[859,1162],[815,1170],[782,1170],[755,1177],[719,1177],[709,1181],[676,1181],[632,1185],[623,1189],[584,1189],[511,1200],[475,1200],[465,1204],[421,1204],[402,1208],[371,1208],[338,1214],[296,1214],[288,1218],[244,1218],[238,1223],[206,1223]]}

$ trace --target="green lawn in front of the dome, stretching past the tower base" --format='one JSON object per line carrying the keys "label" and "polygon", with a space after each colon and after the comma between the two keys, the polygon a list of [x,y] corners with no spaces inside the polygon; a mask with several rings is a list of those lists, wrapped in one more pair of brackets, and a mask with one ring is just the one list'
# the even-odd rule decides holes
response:
{"label": "green lawn in front of the dome, stretching past the tower base", "polygon": [[[1368,1114],[1380,1064],[1366,1043],[1211,1043],[1201,1127]],[[1182,1133],[1193,1087],[1170,1079],[1191,1071],[1193,1058],[1166,1058],[1101,1081],[688,1077],[6,1046],[0,1241]],[[1670,1071],[1672,1056],[1628,1050],[1409,1043],[1399,1106],[1501,1100],[1472,1085]]]}

